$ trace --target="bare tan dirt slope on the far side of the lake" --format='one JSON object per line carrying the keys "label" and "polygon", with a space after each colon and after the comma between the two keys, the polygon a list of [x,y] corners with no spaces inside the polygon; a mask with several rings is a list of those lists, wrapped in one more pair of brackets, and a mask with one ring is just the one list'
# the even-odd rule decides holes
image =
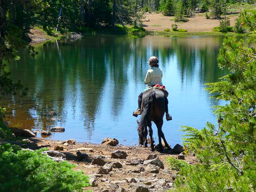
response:
{"label": "bare tan dirt slope on the far side of the lake", "polygon": [[[166,17],[162,13],[146,13],[143,27],[148,31],[164,31],[164,29],[172,29],[174,17]],[[235,25],[237,15],[229,15],[230,26]],[[189,18],[188,22],[175,23],[178,29],[186,29],[188,32],[210,32],[213,27],[218,27],[220,21],[217,19],[206,19],[205,13],[195,13]]]}

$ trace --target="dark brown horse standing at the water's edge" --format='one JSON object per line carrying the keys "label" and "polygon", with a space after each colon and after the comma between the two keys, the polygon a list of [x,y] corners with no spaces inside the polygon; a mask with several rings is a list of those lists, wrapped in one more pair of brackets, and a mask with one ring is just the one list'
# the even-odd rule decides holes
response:
{"label": "dark brown horse standing at the water's edge", "polygon": [[[163,151],[163,145],[161,138],[164,140],[164,145],[167,149],[171,149],[168,145],[164,133],[162,131],[163,126],[163,116],[165,113],[165,103],[167,102],[167,98],[164,95],[164,92],[159,89],[149,89],[146,90],[142,95],[142,113],[140,117],[140,121],[138,122],[138,134],[139,134],[139,144],[143,145],[143,147],[147,147],[147,135],[149,131],[149,136],[151,139],[150,147],[151,150],[154,151],[154,139],[153,139],[153,129],[152,129],[152,121],[156,124],[158,140],[159,140],[159,150]],[[147,130],[148,127],[148,130]]]}

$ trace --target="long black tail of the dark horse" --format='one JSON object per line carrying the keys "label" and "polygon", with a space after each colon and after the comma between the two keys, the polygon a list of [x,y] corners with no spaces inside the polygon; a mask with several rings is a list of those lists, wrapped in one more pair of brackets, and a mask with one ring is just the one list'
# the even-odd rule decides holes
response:
{"label": "long black tail of the dark horse", "polygon": [[141,145],[143,145],[143,142],[144,142],[141,139],[142,138],[147,139],[147,134],[148,134],[147,118],[150,113],[151,105],[152,105],[152,102],[155,97],[156,97],[155,91],[152,91],[149,93],[148,98],[146,99],[145,103],[143,103],[143,110],[142,110],[142,114],[141,114],[140,122],[139,122],[139,126],[138,126],[138,131],[139,131],[139,135],[140,135],[139,142]]}

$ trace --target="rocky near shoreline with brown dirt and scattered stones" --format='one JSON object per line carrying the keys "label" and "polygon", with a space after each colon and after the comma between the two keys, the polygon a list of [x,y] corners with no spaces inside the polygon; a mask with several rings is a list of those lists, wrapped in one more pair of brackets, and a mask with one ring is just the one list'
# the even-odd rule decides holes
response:
{"label": "rocky near shoreline with brown dirt and scattered stones", "polygon": [[166,191],[173,188],[178,173],[166,162],[166,157],[196,163],[196,158],[185,155],[180,145],[159,153],[150,147],[118,145],[118,141],[111,138],[104,139],[101,145],[37,137],[23,138],[21,143],[9,142],[32,150],[47,147],[45,155],[54,161],[67,160],[76,165],[74,170],[89,175],[92,186],[84,190],[92,191]]}

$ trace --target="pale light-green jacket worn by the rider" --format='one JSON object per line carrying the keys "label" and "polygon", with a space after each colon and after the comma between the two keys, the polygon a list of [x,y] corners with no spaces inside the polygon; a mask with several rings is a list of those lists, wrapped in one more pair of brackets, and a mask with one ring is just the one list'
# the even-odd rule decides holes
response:
{"label": "pale light-green jacket worn by the rider", "polygon": [[163,85],[162,77],[163,77],[162,70],[159,69],[158,67],[152,67],[148,69],[144,82],[145,84],[148,84],[148,86],[156,85],[156,84]]}

